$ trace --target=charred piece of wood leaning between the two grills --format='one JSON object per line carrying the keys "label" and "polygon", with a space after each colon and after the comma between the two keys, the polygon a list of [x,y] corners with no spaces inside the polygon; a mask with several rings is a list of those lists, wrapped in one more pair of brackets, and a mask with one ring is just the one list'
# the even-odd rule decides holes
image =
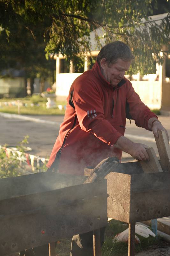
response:
{"label": "charred piece of wood leaning between the two grills", "polygon": [[106,159],[103,159],[98,165],[96,165],[84,183],[90,183],[104,179],[108,173],[114,172],[114,169],[118,163],[119,160],[115,157],[107,157]]}

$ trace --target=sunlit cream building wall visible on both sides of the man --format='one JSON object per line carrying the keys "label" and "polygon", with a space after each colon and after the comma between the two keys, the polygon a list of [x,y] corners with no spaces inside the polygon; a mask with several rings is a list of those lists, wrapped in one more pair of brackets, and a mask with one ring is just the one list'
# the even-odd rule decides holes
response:
{"label": "sunlit cream building wall visible on both sides of the man", "polygon": [[[66,100],[72,82],[81,74],[82,73],[66,73],[56,75],[57,100]],[[161,107],[162,92],[159,81],[131,81],[131,83],[144,104],[151,109],[159,109]]]}

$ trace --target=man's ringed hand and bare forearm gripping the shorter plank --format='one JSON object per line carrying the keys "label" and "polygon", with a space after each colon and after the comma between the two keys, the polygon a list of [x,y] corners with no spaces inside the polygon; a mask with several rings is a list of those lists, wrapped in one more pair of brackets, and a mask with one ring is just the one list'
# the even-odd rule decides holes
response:
{"label": "man's ringed hand and bare forearm gripping the shorter plank", "polygon": [[131,140],[121,136],[115,143],[116,148],[122,149],[122,151],[130,154],[138,161],[149,161],[149,156],[146,151],[148,146],[141,143],[134,143]]}

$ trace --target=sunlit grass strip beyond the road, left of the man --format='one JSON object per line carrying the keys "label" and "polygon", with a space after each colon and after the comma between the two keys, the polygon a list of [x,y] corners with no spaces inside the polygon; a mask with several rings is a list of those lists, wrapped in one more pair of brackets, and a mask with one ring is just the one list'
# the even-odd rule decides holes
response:
{"label": "sunlit grass strip beyond the road, left of the man", "polygon": [[[56,108],[46,108],[47,100],[40,95],[27,96],[25,98],[2,98],[0,99],[0,112],[18,114],[18,103],[20,101],[21,115],[64,115],[66,101],[56,101]],[[62,105],[60,110],[57,105]]]}

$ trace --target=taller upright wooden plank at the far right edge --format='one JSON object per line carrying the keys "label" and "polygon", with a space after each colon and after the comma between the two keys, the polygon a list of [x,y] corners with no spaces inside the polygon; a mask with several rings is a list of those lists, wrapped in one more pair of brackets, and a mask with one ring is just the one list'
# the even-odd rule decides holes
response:
{"label": "taller upright wooden plank at the far right edge", "polygon": [[159,152],[160,164],[164,172],[170,171],[170,149],[169,141],[165,131],[158,131],[158,138],[155,137]]}

